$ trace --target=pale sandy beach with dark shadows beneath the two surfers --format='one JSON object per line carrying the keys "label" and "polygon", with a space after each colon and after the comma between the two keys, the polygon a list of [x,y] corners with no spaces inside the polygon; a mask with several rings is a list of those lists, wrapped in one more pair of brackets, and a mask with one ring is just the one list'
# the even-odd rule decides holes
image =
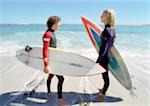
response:
{"label": "pale sandy beach with dark shadows beneath the two surfers", "polygon": [[[101,75],[90,77],[64,76],[64,101],[70,106],[89,102],[89,106],[150,106],[150,78],[148,74],[127,63],[133,81],[133,90],[128,91],[110,75],[110,87],[104,102],[97,99],[98,88],[102,87]],[[44,77],[31,96],[24,95],[25,84],[36,75]],[[52,93],[46,93],[46,76],[42,71],[22,64],[13,56],[0,57],[0,106],[57,106],[57,78],[52,80]]]}

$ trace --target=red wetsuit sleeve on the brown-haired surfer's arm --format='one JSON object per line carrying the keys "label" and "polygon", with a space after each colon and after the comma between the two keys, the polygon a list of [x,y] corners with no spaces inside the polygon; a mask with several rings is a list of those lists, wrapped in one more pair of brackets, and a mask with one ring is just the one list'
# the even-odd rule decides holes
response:
{"label": "red wetsuit sleeve on the brown-haired surfer's arm", "polygon": [[42,40],[43,40],[43,62],[44,66],[48,65],[48,47],[50,43],[51,33],[45,33]]}

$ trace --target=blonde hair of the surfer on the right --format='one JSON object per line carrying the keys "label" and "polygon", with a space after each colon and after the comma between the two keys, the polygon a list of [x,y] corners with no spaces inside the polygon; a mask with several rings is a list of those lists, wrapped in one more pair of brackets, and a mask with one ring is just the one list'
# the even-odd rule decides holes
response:
{"label": "blonde hair of the surfer on the right", "polygon": [[115,11],[113,9],[106,9],[103,11],[103,13],[105,14],[106,16],[106,21],[107,21],[107,24],[109,24],[111,27],[114,27],[115,26],[115,18],[116,18],[116,14],[115,14]]}

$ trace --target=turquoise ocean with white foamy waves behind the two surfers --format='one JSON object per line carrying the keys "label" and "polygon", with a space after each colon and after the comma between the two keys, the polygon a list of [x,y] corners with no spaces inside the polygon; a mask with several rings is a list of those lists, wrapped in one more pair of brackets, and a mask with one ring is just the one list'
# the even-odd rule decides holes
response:
{"label": "turquoise ocean with white foamy waves behind the two surfers", "polygon": [[[1,24],[0,56],[15,56],[26,45],[42,46],[44,24]],[[97,53],[82,24],[62,24],[56,32],[57,47],[96,61]],[[115,46],[127,65],[150,74],[150,26],[116,26]]]}

